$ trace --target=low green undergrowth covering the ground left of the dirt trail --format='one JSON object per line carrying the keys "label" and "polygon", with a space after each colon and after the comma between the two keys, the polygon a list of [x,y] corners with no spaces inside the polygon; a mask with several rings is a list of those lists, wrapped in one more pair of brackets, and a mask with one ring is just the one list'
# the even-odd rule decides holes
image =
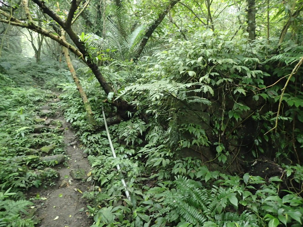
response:
{"label": "low green undergrowth covering the ground left of the dirt trail", "polygon": [[[25,199],[24,192],[42,184],[52,185],[52,179],[58,177],[56,172],[45,174],[46,165],[40,160],[39,149],[55,143],[54,152],[62,153],[62,137],[55,129],[38,135],[33,133],[39,106],[54,94],[50,90],[28,86],[34,81],[29,71],[26,75],[21,68],[15,68],[16,71],[23,74],[18,76],[18,82],[12,71],[0,74],[0,226],[34,227],[37,221],[30,212],[33,203]],[[35,72],[35,79],[38,75]],[[23,86],[20,87],[19,83]]]}

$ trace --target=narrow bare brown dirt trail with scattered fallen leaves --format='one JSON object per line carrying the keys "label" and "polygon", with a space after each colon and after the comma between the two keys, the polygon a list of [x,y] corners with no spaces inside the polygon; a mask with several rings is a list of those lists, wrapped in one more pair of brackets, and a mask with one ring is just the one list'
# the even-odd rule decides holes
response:
{"label": "narrow bare brown dirt trail with scattered fallen leaves", "polygon": [[[58,99],[52,100],[52,103]],[[47,103],[46,105],[51,105]],[[35,198],[37,193],[40,199],[33,202],[37,208],[35,215],[40,220],[40,227],[89,227],[92,219],[88,219],[85,210],[87,202],[82,199],[82,193],[91,189],[91,184],[85,180],[86,174],[91,166],[84,157],[82,150],[78,147],[78,142],[74,132],[62,116],[60,108],[57,116],[48,119],[60,120],[64,129],[65,155],[68,157],[65,166],[63,164],[52,167],[60,174],[55,186],[43,189],[35,189],[29,193],[29,197]],[[82,173],[85,172],[85,173]],[[74,173],[74,174],[73,174]],[[76,175],[76,176],[71,176]],[[82,175],[82,176],[79,176]],[[77,177],[81,179],[76,179]]]}

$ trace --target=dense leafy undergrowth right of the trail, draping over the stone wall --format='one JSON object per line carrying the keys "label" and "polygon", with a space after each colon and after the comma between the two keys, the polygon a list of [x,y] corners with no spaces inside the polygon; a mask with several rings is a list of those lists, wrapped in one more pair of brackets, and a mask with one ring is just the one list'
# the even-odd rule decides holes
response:
{"label": "dense leafy undergrowth right of the trail, draping over the stone wall", "polygon": [[[240,148],[233,148],[237,144],[243,145],[241,153],[248,149],[246,166],[253,166],[254,160],[266,153],[266,144],[276,149],[272,156],[277,162],[298,152],[286,144],[295,138],[296,146],[301,146],[301,112],[295,108],[301,104],[295,105],[294,100],[291,102],[285,96],[288,107],[279,118],[279,127],[290,127],[291,119],[298,125],[291,133],[282,133],[282,137],[280,133],[262,137],[275,121],[272,110],[262,108],[266,102],[276,106],[282,85],[257,90],[271,82],[270,64],[289,64],[289,59],[283,55],[265,61],[262,54],[270,50],[261,41],[249,48],[224,42],[222,36],[213,36],[211,32],[197,33],[191,41],[171,41],[169,49],[148,59],[149,63],[131,66],[132,73],[142,75],[133,84],[121,87],[121,80],[112,81],[117,98],[125,98],[138,109],[129,113],[130,120],[109,126],[116,159],[112,157],[106,132],[96,131],[88,124],[75,86],[60,86],[64,91],[61,99],[65,118],[78,130],[83,151],[88,153],[92,165],[88,180],[95,181],[95,188],[84,194],[93,204],[87,210],[95,221],[92,227],[302,225],[302,166],[279,162],[280,175],[264,177],[237,174],[230,169],[234,160],[245,156],[238,155]],[[257,68],[261,61],[267,70]],[[127,71],[119,69],[121,75]],[[282,66],[274,71],[277,78],[288,73]],[[85,73],[82,85],[95,120],[102,124],[101,107],[107,117],[115,115],[116,109],[105,102],[108,97],[89,71],[85,68],[80,72]],[[301,93],[297,94],[296,100],[301,99]],[[148,121],[144,121],[142,114]],[[247,119],[253,126],[246,124]],[[257,133],[243,134],[245,127],[246,132],[251,130],[248,127],[255,127]],[[201,156],[189,157],[184,154],[186,149],[198,151]],[[209,160],[203,153],[207,150],[212,155]],[[119,172],[117,165],[121,167]],[[122,177],[130,200],[125,197]]]}

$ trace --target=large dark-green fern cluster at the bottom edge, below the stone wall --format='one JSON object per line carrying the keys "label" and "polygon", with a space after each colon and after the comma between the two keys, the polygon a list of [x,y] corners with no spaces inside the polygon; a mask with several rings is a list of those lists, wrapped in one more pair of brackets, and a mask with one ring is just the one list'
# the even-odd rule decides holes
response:
{"label": "large dark-green fern cluster at the bottom edge, below the stone wall", "polygon": [[233,210],[230,205],[234,204],[228,201],[228,198],[236,196],[238,188],[213,186],[206,189],[185,177],[177,177],[171,185],[175,188],[167,189],[160,195],[155,194],[163,207],[156,217],[165,216],[167,222],[175,222],[178,217],[194,226],[209,226],[210,223],[213,223],[213,226],[229,226],[229,223],[241,227],[259,226],[255,215],[251,213],[239,214],[236,210],[222,212]]}

